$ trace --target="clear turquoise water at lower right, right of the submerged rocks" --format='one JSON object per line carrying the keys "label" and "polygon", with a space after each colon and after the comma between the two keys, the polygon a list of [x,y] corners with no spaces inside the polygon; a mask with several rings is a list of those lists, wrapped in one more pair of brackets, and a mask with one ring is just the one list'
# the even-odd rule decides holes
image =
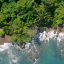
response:
{"label": "clear turquoise water at lower right, right of the submerged rocks", "polygon": [[50,40],[49,43],[41,47],[40,58],[36,64],[64,64],[64,59],[61,57],[55,40]]}

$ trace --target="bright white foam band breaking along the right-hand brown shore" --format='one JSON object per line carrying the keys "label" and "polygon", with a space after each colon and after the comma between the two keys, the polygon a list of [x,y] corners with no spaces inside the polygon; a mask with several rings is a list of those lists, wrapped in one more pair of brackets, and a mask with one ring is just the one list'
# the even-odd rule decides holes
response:
{"label": "bright white foam band breaking along the right-hand brown shore", "polygon": [[46,31],[44,31],[39,34],[40,41],[49,41],[49,39],[51,39],[51,38],[57,38],[57,41],[60,42],[62,39],[64,39],[64,32],[60,32],[58,34],[54,30],[51,30],[48,33]]}

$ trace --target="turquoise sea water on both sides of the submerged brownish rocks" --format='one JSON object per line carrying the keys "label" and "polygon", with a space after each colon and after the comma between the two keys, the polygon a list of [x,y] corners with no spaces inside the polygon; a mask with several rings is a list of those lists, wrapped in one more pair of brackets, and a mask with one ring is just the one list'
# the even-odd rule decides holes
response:
{"label": "turquoise sea water on both sides of the submerged brownish rocks", "polygon": [[[64,59],[61,57],[60,48],[57,47],[56,40],[51,39],[50,42],[37,46],[37,49],[39,59],[35,64],[64,64]],[[10,52],[11,50],[12,52]],[[11,47],[9,52],[9,54],[7,51],[0,52],[0,64],[33,64],[26,52],[19,51],[14,47]],[[17,57],[18,61],[16,63],[12,62],[11,54]]]}

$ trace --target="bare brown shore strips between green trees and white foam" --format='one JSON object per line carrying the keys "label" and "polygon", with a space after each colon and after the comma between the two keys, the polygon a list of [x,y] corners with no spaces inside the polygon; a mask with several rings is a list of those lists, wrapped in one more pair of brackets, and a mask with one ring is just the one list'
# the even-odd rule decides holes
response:
{"label": "bare brown shore strips between green trees and white foam", "polygon": [[[59,34],[60,32],[64,32],[64,27],[57,27],[57,28],[44,27],[43,31],[50,32],[53,30],[54,32],[57,32]],[[10,43],[10,42],[11,42],[11,37],[9,35],[5,35],[5,37],[0,37],[0,45],[3,45],[4,43]]]}

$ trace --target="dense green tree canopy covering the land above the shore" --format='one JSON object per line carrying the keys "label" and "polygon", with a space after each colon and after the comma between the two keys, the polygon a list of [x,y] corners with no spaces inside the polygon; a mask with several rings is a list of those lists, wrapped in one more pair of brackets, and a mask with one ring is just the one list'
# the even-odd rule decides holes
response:
{"label": "dense green tree canopy covering the land above the shore", "polygon": [[0,36],[12,41],[30,41],[37,28],[64,23],[64,0],[0,0]]}

